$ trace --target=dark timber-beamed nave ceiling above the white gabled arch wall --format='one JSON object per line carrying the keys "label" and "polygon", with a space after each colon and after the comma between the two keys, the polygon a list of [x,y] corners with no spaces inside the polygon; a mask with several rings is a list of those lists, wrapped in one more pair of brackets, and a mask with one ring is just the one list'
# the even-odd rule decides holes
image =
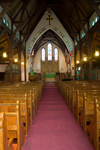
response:
{"label": "dark timber-beamed nave ceiling above the white gabled arch wall", "polygon": [[90,5],[92,0],[1,0],[1,5],[4,7],[4,2],[10,1],[12,5],[7,14],[16,26],[20,25],[19,30],[24,38],[30,36],[44,13],[50,14],[50,9],[54,11],[72,39],[81,30],[79,23],[88,22],[88,18],[94,12]]}

